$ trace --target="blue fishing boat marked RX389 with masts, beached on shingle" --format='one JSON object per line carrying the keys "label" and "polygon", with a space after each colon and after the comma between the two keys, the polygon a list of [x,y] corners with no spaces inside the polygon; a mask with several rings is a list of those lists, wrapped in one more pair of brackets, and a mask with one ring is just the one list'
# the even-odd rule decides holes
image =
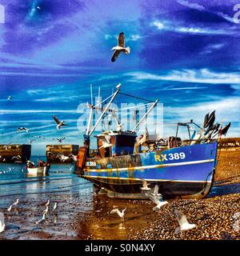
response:
{"label": "blue fishing boat marked RX389 with masts, beached on shingle", "polygon": [[[76,174],[93,182],[98,190],[104,189],[113,198],[144,198],[141,192],[143,180],[150,184],[151,190],[157,184],[159,193],[165,198],[206,197],[217,166],[218,142],[211,137],[218,134],[219,129],[214,124],[215,112],[206,115],[203,126],[198,126],[193,120],[178,122],[176,134],[167,138],[166,145],[155,141],[154,147],[143,151],[137,140],[138,126],[157,105],[156,100],[134,129],[123,131],[121,123],[117,122],[116,130],[105,130],[96,135],[98,150],[95,155],[90,154],[90,136],[104,114],[110,111],[110,104],[119,90],[120,86],[117,86],[92,129],[90,124],[97,106],[90,105],[84,146],[78,151]],[[198,133],[190,136],[193,125],[197,126]],[[188,130],[190,138],[185,142],[178,137],[179,126]]]}

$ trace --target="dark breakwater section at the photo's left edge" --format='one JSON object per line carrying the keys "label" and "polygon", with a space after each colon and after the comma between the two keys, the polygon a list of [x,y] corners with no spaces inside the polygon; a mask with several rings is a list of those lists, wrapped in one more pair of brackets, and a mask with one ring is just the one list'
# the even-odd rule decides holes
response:
{"label": "dark breakwater section at the photo's left edge", "polygon": [[1,144],[0,162],[26,162],[31,156],[31,145]]}

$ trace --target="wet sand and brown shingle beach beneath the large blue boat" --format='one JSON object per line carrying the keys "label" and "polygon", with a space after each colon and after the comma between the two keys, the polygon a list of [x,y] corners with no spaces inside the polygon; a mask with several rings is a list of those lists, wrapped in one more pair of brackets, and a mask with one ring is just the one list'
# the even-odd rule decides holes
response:
{"label": "wet sand and brown shingle beach beneath the large blue boat", "polygon": [[[170,199],[158,212],[146,200],[120,200],[94,195],[91,190],[27,194],[20,197],[18,208],[7,212],[7,230],[0,239],[240,239],[240,160],[239,150],[221,150],[214,187],[204,199]],[[86,181],[85,181],[86,182]],[[8,197],[14,202],[16,196]],[[50,214],[42,218],[44,204],[50,198]],[[2,200],[2,199],[1,199]],[[54,202],[58,208],[54,212]],[[114,206],[126,209],[125,221],[110,214]],[[194,230],[174,234],[178,226],[174,209],[186,214]],[[240,228],[240,225],[239,225]]]}

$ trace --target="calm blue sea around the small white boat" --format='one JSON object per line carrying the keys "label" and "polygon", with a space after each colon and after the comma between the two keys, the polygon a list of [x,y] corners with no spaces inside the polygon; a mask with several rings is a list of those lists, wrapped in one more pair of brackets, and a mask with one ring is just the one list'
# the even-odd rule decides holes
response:
{"label": "calm blue sea around the small white boat", "polygon": [[[33,156],[31,161],[38,159],[46,161],[46,157]],[[8,198],[22,198],[27,195],[41,194],[90,194],[92,183],[78,178],[74,174],[74,165],[51,164],[49,175],[30,176],[25,168],[26,164],[0,164],[0,208],[9,205]]]}

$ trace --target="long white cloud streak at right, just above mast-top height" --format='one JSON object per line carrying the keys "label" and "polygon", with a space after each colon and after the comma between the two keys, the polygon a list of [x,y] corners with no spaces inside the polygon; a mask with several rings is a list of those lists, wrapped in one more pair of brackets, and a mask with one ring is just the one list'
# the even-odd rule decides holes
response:
{"label": "long white cloud streak at right, just above mast-top height", "polygon": [[210,84],[240,84],[240,74],[215,73],[208,69],[201,70],[172,70],[168,74],[151,74],[146,72],[130,72],[125,74],[139,80],[198,82]]}

